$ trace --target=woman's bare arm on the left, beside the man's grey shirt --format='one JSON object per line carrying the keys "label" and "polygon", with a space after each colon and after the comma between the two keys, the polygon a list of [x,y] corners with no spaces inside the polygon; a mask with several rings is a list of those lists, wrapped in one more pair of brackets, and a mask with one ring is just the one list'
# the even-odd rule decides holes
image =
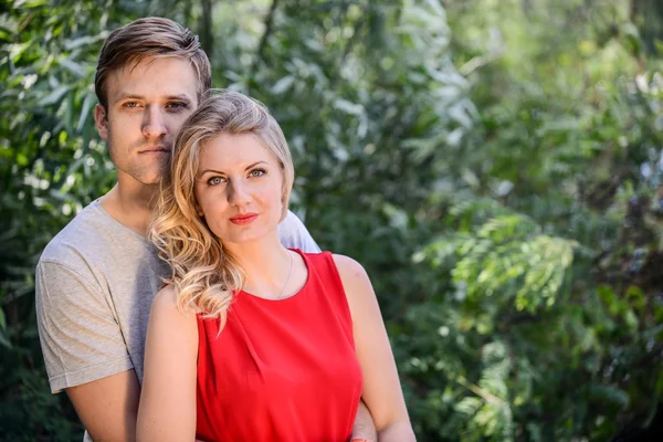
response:
{"label": "woman's bare arm on the left, beside the man's grey shirt", "polygon": [[180,313],[175,291],[165,287],[155,296],[147,327],[138,442],[196,439],[197,358],[196,315]]}

